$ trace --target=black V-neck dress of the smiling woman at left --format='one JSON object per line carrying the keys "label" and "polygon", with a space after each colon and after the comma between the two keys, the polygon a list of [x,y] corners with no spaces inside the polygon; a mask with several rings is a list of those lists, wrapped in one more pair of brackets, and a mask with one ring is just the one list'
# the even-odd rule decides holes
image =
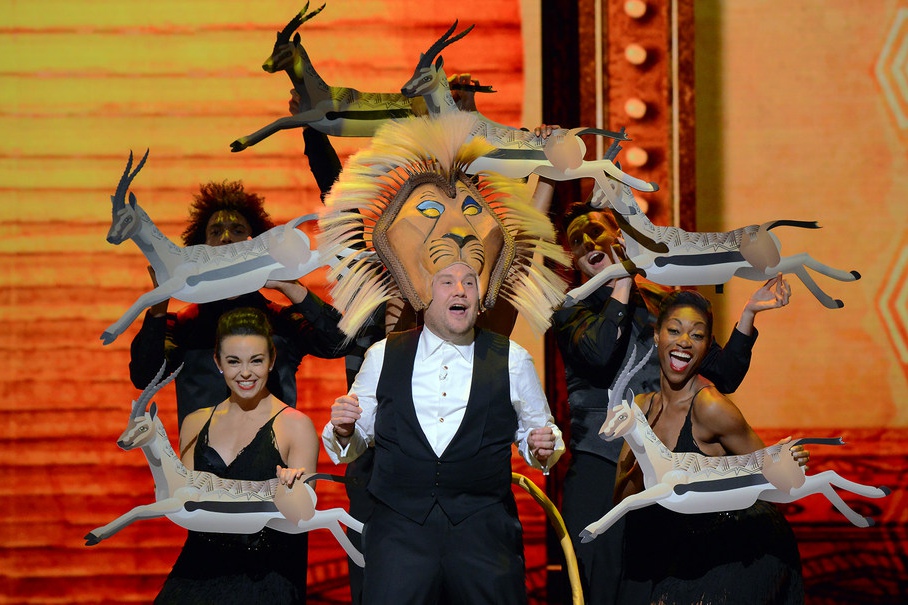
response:
{"label": "black V-neck dress of the smiling woman at left", "polygon": [[[208,444],[209,417],[195,446],[196,470],[225,479],[273,479],[276,465],[287,466],[273,428],[284,409],[259,429],[230,464]],[[248,535],[190,531],[155,603],[305,603],[307,562],[306,533],[287,534],[267,527]]]}

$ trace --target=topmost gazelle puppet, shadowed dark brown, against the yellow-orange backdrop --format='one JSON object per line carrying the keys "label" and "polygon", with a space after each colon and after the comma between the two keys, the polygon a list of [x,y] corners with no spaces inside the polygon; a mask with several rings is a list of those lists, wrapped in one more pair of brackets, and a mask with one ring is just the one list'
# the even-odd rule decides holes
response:
{"label": "topmost gazelle puppet, shadowed dark brown, against the yellow-orange backdrop", "polygon": [[300,43],[299,33],[293,34],[324,8],[322,4],[306,13],[309,10],[307,2],[303,10],[277,33],[271,56],[262,65],[268,73],[287,73],[299,95],[299,111],[236,139],[230,144],[231,151],[243,151],[280,130],[304,126],[333,136],[371,137],[387,120],[415,115],[412,101],[400,93],[360,92],[355,88],[329,86],[315,71],[309,54]]}

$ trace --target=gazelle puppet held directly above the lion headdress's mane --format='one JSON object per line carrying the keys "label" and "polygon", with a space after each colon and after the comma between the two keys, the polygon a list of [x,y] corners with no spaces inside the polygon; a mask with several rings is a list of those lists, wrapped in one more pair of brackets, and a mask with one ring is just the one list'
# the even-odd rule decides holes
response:
{"label": "gazelle puppet held directly above the lion headdress's mane", "polygon": [[[410,98],[421,97],[428,108],[429,115],[438,115],[449,111],[458,111],[451,95],[448,78],[443,66],[441,51],[460,40],[472,31],[471,25],[464,31],[452,36],[458,22],[436,40],[432,46],[420,54],[419,62],[410,79],[401,87],[401,92]],[[611,139],[629,140],[622,129],[620,132],[597,128],[555,128],[546,137],[522,128],[505,126],[486,118],[478,111],[473,111],[479,121],[471,135],[481,136],[495,146],[495,150],[476,159],[467,169],[470,174],[480,171],[497,172],[508,178],[526,178],[530,174],[553,181],[566,181],[578,178],[593,178],[606,186],[607,176],[617,179],[640,191],[656,191],[655,183],[648,183],[630,176],[618,168],[611,159],[586,161],[586,144],[581,135],[598,135]]]}

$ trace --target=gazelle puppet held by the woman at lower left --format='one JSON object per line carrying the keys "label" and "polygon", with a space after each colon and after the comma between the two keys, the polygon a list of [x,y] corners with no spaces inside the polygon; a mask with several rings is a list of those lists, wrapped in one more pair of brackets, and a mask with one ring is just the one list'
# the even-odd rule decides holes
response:
{"label": "gazelle puppet held by the woman at lower left", "polygon": [[317,510],[312,479],[327,475],[306,475],[292,488],[281,485],[277,478],[268,481],[222,479],[204,471],[187,469],[180,461],[161,418],[157,405],[148,402],[180,371],[178,368],[163,381],[166,364],[138,399],[132,402],[132,412],[126,430],[117,440],[124,450],[141,448],[148,460],[155,485],[155,502],[135,507],[103,527],[85,536],[85,545],[94,546],[127,525],[143,519],[167,517],[180,527],[192,531],[251,534],[270,527],[288,534],[313,529],[327,529],[347,555],[360,567],[362,554],[353,546],[341,525],[361,532],[363,524],[342,508]]}

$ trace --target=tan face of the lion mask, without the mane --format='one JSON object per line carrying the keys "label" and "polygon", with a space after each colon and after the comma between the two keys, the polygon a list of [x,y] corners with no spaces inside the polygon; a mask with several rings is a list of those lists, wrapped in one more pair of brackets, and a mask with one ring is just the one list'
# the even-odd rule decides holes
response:
{"label": "tan face of the lion mask, without the mane", "polygon": [[492,306],[500,276],[514,255],[511,236],[465,176],[453,183],[437,173],[413,177],[373,237],[376,251],[416,310],[432,301],[434,275],[454,263],[476,271],[483,306]]}

